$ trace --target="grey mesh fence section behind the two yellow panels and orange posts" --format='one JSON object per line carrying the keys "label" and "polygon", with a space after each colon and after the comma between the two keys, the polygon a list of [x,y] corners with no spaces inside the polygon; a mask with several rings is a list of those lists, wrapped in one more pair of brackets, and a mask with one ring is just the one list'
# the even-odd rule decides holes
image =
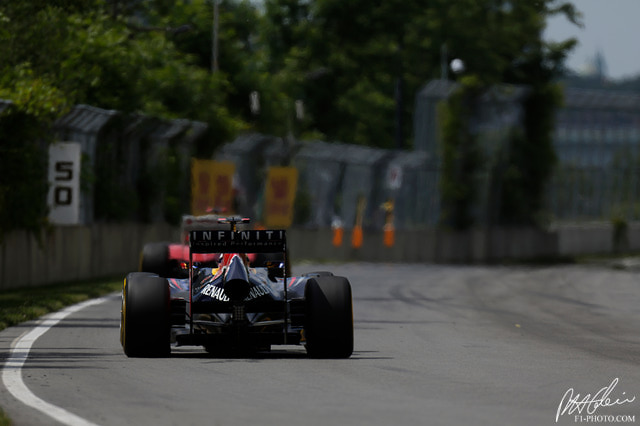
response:
{"label": "grey mesh fence section behind the two yellow panels and orange posts", "polygon": [[[245,135],[225,145],[216,159],[236,165],[242,214],[260,217],[264,177],[270,166],[299,171],[296,224],[328,227],[336,221],[350,228],[359,203],[362,225],[381,228],[384,203],[393,201],[396,226],[424,224],[429,214],[425,190],[437,179],[427,171],[428,155],[321,141],[284,141]],[[431,180],[430,180],[431,179]]]}

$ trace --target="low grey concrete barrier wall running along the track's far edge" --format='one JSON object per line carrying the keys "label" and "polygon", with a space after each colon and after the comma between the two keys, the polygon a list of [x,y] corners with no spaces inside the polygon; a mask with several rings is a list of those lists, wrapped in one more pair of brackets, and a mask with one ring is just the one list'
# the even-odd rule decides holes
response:
{"label": "low grey concrete barrier wall running along the track's far edge", "polygon": [[[0,244],[0,290],[126,274],[138,268],[140,249],[154,241],[178,241],[177,228],[165,224],[94,224],[53,228],[41,244],[26,232],[13,232]],[[609,224],[534,229],[493,229],[452,233],[427,229],[398,231],[395,245],[382,232],[365,231],[363,245],[351,247],[345,231],[340,247],[328,229],[288,231],[292,260],[418,263],[495,263],[553,259],[640,250],[640,224],[631,225],[615,244]]]}

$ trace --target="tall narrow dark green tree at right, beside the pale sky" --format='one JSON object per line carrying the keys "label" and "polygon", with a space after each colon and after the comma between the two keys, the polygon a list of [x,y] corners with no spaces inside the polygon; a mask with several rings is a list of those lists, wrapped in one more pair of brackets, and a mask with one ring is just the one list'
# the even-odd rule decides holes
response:
{"label": "tall narrow dark green tree at right, beside the pale sky", "polygon": [[[557,79],[564,73],[564,61],[576,40],[546,43],[542,40],[545,20],[563,14],[570,22],[581,24],[581,15],[573,5],[554,0],[521,2],[513,13],[520,19],[530,17],[527,34],[530,42],[504,73],[509,83],[527,85],[531,94],[525,102],[524,134],[514,135],[505,159],[501,179],[499,220],[503,224],[544,225],[544,193],[553,172],[556,155],[553,147],[555,113],[562,105]],[[536,19],[536,17],[540,17]]]}

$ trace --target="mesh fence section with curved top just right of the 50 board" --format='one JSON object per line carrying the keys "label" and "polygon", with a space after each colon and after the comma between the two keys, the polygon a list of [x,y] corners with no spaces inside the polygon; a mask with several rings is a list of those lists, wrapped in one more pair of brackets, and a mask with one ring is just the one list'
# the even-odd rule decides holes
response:
{"label": "mesh fence section with curved top just right of the 50 board", "polygon": [[176,222],[189,205],[190,159],[205,123],[78,105],[54,125],[82,150],[80,222]]}

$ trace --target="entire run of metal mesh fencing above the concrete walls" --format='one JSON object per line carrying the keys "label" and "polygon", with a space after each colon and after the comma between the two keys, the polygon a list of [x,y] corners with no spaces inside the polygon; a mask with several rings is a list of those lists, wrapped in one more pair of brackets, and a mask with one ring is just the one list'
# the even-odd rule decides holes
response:
{"label": "entire run of metal mesh fencing above the concrete walls", "polygon": [[[268,167],[291,165],[300,173],[297,224],[345,227],[364,206],[363,226],[380,228],[382,205],[394,202],[398,229],[438,223],[440,207],[439,104],[455,84],[434,81],[416,96],[414,151],[393,151],[320,141],[243,135],[216,159],[236,165],[238,213],[258,217]],[[477,176],[474,215],[489,222],[496,211],[491,170],[511,129],[521,126],[526,88],[490,91],[471,129],[485,162]],[[552,220],[640,219],[640,96],[566,89],[554,145],[558,163],[547,188]],[[125,116],[79,105],[55,124],[59,140],[80,142],[86,169],[81,202],[93,220],[163,221],[189,205],[189,160],[204,123]],[[86,177],[86,176],[85,176]],[[362,201],[364,200],[364,201]]]}

